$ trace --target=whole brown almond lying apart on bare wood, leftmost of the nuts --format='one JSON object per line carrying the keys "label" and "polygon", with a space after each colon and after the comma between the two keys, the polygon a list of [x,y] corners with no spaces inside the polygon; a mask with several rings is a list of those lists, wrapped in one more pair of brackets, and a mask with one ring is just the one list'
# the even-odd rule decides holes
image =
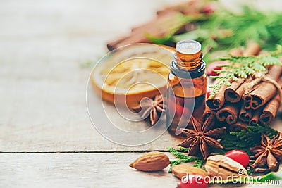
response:
{"label": "whole brown almond lying apart on bare wood, leftmost of the nuts", "polygon": [[164,153],[152,151],[137,158],[129,166],[141,171],[163,170],[169,165],[169,158]]}

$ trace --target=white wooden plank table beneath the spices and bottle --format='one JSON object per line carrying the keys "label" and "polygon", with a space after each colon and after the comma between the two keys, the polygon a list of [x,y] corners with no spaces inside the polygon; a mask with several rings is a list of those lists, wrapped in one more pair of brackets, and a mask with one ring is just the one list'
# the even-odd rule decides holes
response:
{"label": "white wooden plank table beneath the spices and bottle", "polygon": [[0,1],[0,187],[176,186],[168,169],[142,173],[128,164],[180,140],[165,133],[130,147],[104,139],[87,114],[91,67],[84,66],[104,55],[106,42],[172,3]]}

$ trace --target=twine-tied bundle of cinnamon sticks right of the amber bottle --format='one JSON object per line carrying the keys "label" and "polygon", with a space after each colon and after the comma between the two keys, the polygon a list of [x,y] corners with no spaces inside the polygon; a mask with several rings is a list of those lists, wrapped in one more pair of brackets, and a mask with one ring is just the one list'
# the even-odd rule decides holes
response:
{"label": "twine-tied bundle of cinnamon sticks right of the amber bottle", "polygon": [[[237,50],[237,54],[232,55],[255,56],[260,50],[259,44],[251,44],[244,52],[239,51],[238,54]],[[223,84],[216,96],[207,99],[203,120],[215,115],[217,120],[229,125],[231,131],[247,129],[247,125],[257,123],[270,124],[281,104],[281,93],[277,88],[277,83],[278,87],[282,86],[281,73],[282,66],[271,65],[265,76],[275,83],[255,75],[240,77],[237,81],[229,80],[230,86]]]}

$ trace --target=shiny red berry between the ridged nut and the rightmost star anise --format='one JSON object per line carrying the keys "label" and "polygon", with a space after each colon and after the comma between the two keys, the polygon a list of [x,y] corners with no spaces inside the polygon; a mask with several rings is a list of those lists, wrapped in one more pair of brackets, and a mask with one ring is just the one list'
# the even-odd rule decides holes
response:
{"label": "shiny red berry between the ridged nut and the rightmost star anise", "polygon": [[249,165],[250,163],[250,158],[247,155],[247,153],[240,149],[233,149],[231,151],[228,151],[224,154],[224,156],[228,156],[229,158],[232,158],[234,161],[240,163],[245,168],[247,168],[247,165]]}

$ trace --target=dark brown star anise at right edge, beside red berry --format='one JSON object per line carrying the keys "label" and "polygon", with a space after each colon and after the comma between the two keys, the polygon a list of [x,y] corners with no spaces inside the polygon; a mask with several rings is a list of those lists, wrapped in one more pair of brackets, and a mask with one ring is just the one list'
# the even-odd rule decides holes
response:
{"label": "dark brown star anise at right edge, beside red berry", "polygon": [[255,163],[250,165],[255,172],[277,171],[279,161],[282,161],[282,134],[278,132],[276,137],[269,139],[262,134],[262,145],[255,146],[250,149],[252,153],[256,153],[251,158],[257,158]]}

